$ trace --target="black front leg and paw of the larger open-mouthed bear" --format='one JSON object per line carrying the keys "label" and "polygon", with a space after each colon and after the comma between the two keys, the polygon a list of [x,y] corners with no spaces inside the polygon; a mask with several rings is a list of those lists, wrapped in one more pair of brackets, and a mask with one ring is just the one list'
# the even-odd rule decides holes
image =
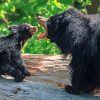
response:
{"label": "black front leg and paw of the larger open-mouthed bear", "polygon": [[78,56],[77,58],[73,57],[70,64],[70,68],[72,86],[66,85],[66,91],[71,94],[92,93],[94,85],[92,81],[89,82],[87,80],[88,66],[85,62],[83,62],[83,59]]}

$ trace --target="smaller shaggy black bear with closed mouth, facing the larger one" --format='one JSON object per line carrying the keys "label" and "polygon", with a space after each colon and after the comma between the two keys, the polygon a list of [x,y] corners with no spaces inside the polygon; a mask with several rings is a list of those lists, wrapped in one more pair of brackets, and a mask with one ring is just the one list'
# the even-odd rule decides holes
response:
{"label": "smaller shaggy black bear with closed mouth, facing the larger one", "polygon": [[15,81],[22,81],[30,73],[21,58],[21,48],[32,37],[36,28],[29,24],[12,25],[11,34],[0,38],[0,75],[11,75]]}

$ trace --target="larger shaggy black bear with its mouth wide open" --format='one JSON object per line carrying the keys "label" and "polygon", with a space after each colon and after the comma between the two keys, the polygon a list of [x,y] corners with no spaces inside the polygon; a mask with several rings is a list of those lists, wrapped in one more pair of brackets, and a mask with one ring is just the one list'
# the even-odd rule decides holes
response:
{"label": "larger shaggy black bear with its mouth wide open", "polygon": [[72,55],[72,86],[67,85],[66,91],[91,93],[100,87],[100,16],[71,8],[48,19],[38,16],[37,20],[46,29],[38,38],[47,37],[62,54]]}

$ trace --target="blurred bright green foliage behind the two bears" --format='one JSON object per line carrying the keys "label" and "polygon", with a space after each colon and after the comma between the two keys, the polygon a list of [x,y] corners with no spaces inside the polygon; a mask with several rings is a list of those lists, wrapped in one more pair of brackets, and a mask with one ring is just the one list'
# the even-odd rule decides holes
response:
{"label": "blurred bright green foliage behind the two bears", "polygon": [[[37,35],[45,30],[37,24],[34,16],[41,15],[49,17],[58,14],[71,6],[74,6],[83,12],[88,12],[89,6],[93,5],[94,2],[97,5],[96,8],[99,8],[98,4],[100,4],[100,2],[96,1],[98,0],[0,0],[0,35],[3,36],[9,33],[7,30],[8,25],[30,23],[38,26],[39,31],[34,38],[26,43],[22,52],[34,54],[58,54],[60,51],[55,44],[50,43],[49,40],[36,40]],[[95,12],[97,12],[97,10],[95,10]]]}

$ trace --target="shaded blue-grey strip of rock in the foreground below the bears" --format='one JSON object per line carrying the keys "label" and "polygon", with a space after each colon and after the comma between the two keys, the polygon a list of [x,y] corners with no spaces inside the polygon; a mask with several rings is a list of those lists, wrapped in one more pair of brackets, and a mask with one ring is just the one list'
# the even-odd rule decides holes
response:
{"label": "shaded blue-grey strip of rock in the foreground below the bears", "polygon": [[89,95],[71,95],[64,89],[39,82],[0,79],[0,100],[100,100]]}

